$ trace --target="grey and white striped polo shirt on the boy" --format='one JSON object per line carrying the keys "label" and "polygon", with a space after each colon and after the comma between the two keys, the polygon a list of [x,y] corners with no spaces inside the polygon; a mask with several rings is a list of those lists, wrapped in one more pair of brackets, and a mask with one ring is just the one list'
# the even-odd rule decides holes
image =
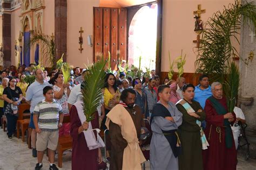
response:
{"label": "grey and white striped polo shirt on the boy", "polygon": [[52,103],[39,102],[33,114],[38,114],[38,128],[42,131],[57,131],[59,114],[62,114],[62,107],[54,99]]}

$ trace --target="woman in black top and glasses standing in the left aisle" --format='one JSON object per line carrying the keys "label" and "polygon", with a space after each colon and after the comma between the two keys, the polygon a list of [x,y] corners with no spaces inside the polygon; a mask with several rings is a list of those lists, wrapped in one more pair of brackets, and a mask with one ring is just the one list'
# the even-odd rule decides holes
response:
{"label": "woman in black top and glasses standing in the left aisle", "polygon": [[16,83],[16,79],[11,77],[8,87],[3,91],[4,113],[7,118],[7,134],[9,139],[12,138],[12,134],[15,132],[18,118],[17,107],[23,98],[22,90],[21,88],[16,87]]}

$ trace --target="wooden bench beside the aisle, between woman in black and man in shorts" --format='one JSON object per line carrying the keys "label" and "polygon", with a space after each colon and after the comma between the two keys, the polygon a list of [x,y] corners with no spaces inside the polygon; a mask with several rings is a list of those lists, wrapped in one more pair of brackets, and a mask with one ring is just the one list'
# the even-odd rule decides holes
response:
{"label": "wooden bench beside the aisle, between woman in black and man in shorts", "polygon": [[30,122],[30,112],[26,112],[26,113],[24,112],[29,109],[30,109],[30,105],[27,103],[20,104],[18,107],[17,138],[19,138],[19,129],[21,129],[22,141],[25,141],[25,131],[29,128],[29,122]]}

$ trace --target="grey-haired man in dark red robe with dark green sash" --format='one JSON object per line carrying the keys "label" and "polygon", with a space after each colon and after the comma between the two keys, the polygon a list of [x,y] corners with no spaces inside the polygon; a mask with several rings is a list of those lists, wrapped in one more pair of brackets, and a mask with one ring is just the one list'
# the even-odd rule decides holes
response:
{"label": "grey-haired man in dark red robe with dark green sash", "polygon": [[204,169],[233,170],[237,166],[237,151],[231,126],[236,117],[229,112],[227,100],[223,96],[223,87],[219,82],[211,85],[212,96],[205,103],[206,129],[205,135],[209,147],[203,150]]}

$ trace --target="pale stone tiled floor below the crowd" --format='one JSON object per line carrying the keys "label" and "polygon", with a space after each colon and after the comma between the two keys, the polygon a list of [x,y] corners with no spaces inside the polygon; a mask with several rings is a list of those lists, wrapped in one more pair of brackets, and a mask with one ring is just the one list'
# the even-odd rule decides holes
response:
{"label": "pale stone tiled floor below the crowd", "polygon": [[[61,169],[71,169],[71,151],[66,151],[64,154],[63,168]],[[46,158],[45,156],[43,159],[42,170],[49,169],[49,162]],[[57,165],[57,157],[55,160]],[[37,158],[32,158],[31,150],[26,145],[26,142],[22,142],[21,139],[16,137],[8,139],[6,132],[0,129],[0,170],[32,170],[35,169],[36,163]],[[146,162],[146,169],[150,169],[149,162]],[[256,170],[256,160],[245,161],[244,155],[239,154],[237,169]]]}

